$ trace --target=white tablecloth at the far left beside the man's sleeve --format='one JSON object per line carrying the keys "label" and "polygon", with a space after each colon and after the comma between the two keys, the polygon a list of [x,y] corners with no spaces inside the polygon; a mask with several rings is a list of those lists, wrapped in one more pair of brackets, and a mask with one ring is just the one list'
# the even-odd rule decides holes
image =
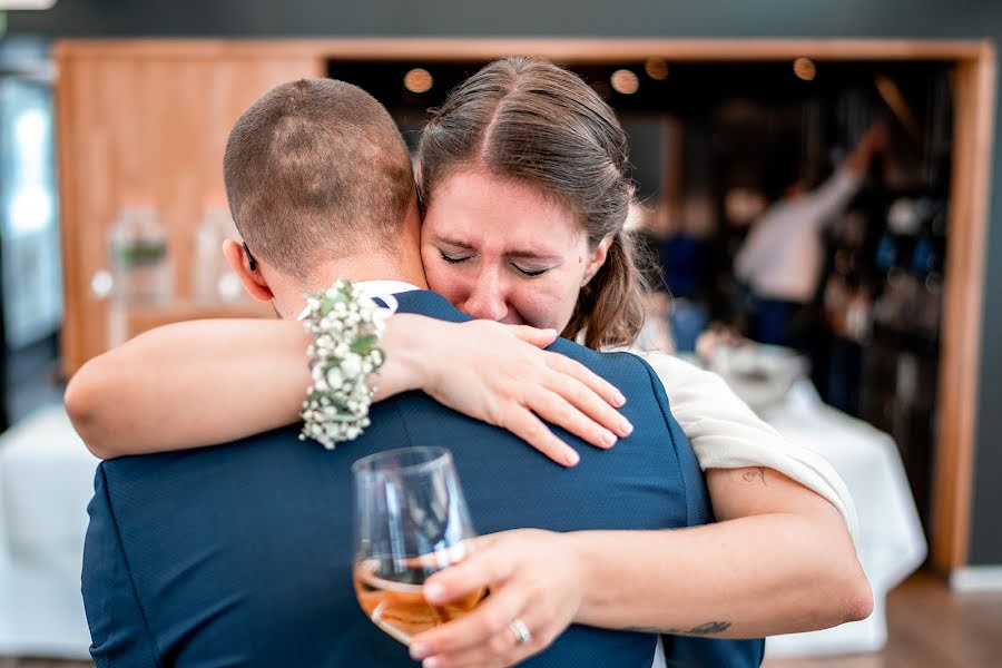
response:
{"label": "white tablecloth at the far left beside the man's sleeve", "polygon": [[0,435],[0,655],[88,657],[80,563],[96,466],[62,406]]}

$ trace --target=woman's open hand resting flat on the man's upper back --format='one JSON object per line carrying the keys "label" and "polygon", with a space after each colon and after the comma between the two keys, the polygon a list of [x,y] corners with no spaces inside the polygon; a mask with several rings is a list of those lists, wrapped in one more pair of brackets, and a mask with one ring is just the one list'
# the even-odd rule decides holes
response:
{"label": "woman's open hand resting flat on the man's upper back", "polygon": [[507,429],[554,462],[574,465],[578,453],[543,421],[597,448],[612,446],[632,425],[616,410],[626,402],[616,387],[582,364],[541,350],[556,338],[553,330],[525,325],[397,314],[383,344],[387,364],[395,356],[399,362],[390,373],[406,369],[413,376],[407,384],[439,403]]}

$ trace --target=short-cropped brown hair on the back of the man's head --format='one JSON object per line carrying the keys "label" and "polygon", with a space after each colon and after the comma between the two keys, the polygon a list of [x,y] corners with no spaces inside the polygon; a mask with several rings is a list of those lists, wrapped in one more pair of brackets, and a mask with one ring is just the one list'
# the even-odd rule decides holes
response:
{"label": "short-cropped brown hair on the back of the man's head", "polygon": [[233,127],[223,173],[252,253],[303,281],[337,257],[394,253],[414,196],[390,114],[334,79],[289,81],[262,96]]}

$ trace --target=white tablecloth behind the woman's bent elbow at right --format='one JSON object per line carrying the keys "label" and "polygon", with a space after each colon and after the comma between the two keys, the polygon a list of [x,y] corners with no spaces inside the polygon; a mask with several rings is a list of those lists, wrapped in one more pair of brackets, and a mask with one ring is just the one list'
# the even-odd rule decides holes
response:
{"label": "white tablecloth behind the woman's bent elbow at right", "polygon": [[874,610],[834,629],[776,636],[768,656],[876,651],[887,641],[886,593],[925,560],[926,543],[894,440],[862,420],[825,405],[808,381],[763,419],[793,443],[824,456],[845,480],[859,515],[856,548],[873,587]]}

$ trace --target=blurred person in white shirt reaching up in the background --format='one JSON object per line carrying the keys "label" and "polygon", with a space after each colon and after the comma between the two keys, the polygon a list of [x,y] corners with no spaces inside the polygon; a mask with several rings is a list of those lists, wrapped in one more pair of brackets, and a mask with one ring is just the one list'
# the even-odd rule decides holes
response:
{"label": "blurred person in white shirt reaching up in the background", "polygon": [[[875,155],[887,144],[874,124],[835,173],[806,191],[799,178],[776,169],[779,200],[753,224],[735,259],[735,274],[752,292],[749,334],[760,343],[807,351],[823,264],[822,234],[859,190]],[[774,188],[776,189],[776,188]]]}

